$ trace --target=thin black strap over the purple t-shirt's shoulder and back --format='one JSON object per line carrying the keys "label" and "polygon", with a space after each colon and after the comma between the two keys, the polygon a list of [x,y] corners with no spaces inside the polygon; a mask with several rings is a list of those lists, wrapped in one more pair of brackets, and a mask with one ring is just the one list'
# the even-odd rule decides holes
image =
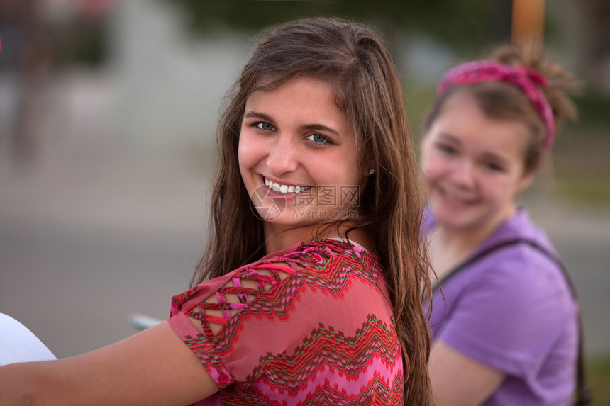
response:
{"label": "thin black strap over the purple t-shirt's shoulder and back", "polygon": [[[508,239],[506,241],[499,242],[496,245],[492,245],[492,247],[487,247],[487,249],[484,249],[482,252],[479,252],[475,256],[470,256],[470,258],[467,258],[464,262],[462,262],[462,264],[459,264],[454,269],[452,269],[448,274],[446,274],[443,277],[443,279],[438,283],[438,285],[434,288],[434,291],[436,291],[438,288],[440,288],[440,285],[442,283],[446,283],[450,278],[452,278],[453,276],[458,274],[462,269],[465,269],[467,266],[470,266],[471,264],[475,263],[476,261],[479,261],[479,259],[482,259],[484,256],[487,256],[487,255],[491,254],[492,252],[502,249],[504,247],[510,247],[512,245],[517,245],[517,244],[526,244],[526,245],[532,247],[533,249],[536,249],[538,252],[542,253],[546,257],[548,257],[548,259],[550,259],[551,261],[555,262],[555,264],[558,266],[558,268],[561,269],[563,277],[564,277],[565,281],[567,282],[567,286],[570,288],[570,293],[572,294],[572,298],[574,298],[578,302],[578,297],[576,295],[576,288],[574,286],[574,283],[572,282],[572,278],[570,278],[570,274],[568,274],[567,269],[562,264],[562,261],[558,258],[558,256],[556,256],[555,254],[550,252],[548,249],[546,249],[542,245],[538,244],[538,242],[535,242],[531,239],[525,239],[525,238]],[[586,374],[585,374],[585,369],[584,369],[582,317],[580,317],[579,309],[578,309],[577,319],[578,319],[578,358],[576,360],[576,399],[575,399],[574,405],[575,406],[587,406],[591,403],[593,397],[592,397],[591,388],[589,388],[589,385],[587,385],[587,377],[585,376]]]}

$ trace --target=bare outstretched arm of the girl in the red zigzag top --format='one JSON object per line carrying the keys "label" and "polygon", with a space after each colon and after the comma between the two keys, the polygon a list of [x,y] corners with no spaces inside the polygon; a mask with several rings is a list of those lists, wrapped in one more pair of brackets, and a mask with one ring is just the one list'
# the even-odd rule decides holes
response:
{"label": "bare outstretched arm of the girl in the red zigzag top", "polygon": [[57,361],[0,367],[0,405],[189,405],[218,391],[167,322]]}

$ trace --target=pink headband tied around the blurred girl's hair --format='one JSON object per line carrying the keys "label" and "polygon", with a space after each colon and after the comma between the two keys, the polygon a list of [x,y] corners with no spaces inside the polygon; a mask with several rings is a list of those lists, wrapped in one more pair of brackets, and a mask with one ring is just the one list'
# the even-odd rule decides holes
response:
{"label": "pink headband tied around the blurred girl's hair", "polygon": [[548,149],[555,138],[555,120],[544,94],[536,84],[546,86],[547,80],[538,72],[525,67],[499,64],[492,61],[475,61],[450,69],[441,79],[437,94],[443,94],[452,84],[480,83],[483,81],[505,81],[518,86],[533,104],[546,125],[544,148]]}

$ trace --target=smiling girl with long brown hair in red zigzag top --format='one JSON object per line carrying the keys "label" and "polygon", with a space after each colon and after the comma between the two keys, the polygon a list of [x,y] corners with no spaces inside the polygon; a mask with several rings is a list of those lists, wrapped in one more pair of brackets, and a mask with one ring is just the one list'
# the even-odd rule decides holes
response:
{"label": "smiling girl with long brown hair in red zigzag top", "polygon": [[218,142],[212,235],[170,319],[0,368],[1,405],[431,405],[418,168],[381,41],[324,18],[272,30]]}

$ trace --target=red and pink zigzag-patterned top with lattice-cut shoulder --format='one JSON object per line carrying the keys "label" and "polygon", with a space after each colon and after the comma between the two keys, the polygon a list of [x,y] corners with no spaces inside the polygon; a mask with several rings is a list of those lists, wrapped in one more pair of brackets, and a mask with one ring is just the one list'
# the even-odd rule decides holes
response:
{"label": "red and pink zigzag-patterned top with lattice-cut shoulder", "polygon": [[172,299],[170,325],[220,391],[196,405],[401,405],[377,256],[296,244]]}

